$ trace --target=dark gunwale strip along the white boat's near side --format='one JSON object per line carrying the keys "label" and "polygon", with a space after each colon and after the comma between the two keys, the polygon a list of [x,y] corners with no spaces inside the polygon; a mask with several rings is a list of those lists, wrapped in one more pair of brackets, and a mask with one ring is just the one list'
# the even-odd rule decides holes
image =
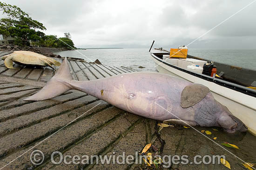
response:
{"label": "dark gunwale strip along the white boat's near side", "polygon": [[204,75],[204,74],[198,74],[198,73],[195,73],[195,72],[190,72],[189,70],[186,70],[186,69],[183,69],[181,67],[178,67],[178,66],[175,66],[175,65],[171,65],[171,64],[165,62],[163,59],[160,59],[159,57],[157,57],[155,55],[155,53],[157,53],[157,52],[150,52],[152,57],[154,57],[158,61],[161,61],[165,65],[173,67],[173,68],[175,68],[177,70],[180,70],[182,72],[186,72],[186,73],[188,73],[188,74],[190,74],[192,76],[195,76],[195,77],[198,77],[198,78],[202,78],[204,80],[216,83],[217,85],[224,86],[224,87],[229,88],[231,90],[234,90],[236,92],[241,92],[243,94],[246,94],[246,95],[249,95],[249,96],[252,96],[252,97],[256,98],[256,91],[254,91],[253,89],[244,87],[242,85],[237,85],[235,83],[231,83],[231,82],[228,82],[228,81],[225,81],[225,80],[221,80],[221,79],[218,79],[218,78],[213,78],[213,77],[210,77],[210,76],[207,76],[207,75]]}

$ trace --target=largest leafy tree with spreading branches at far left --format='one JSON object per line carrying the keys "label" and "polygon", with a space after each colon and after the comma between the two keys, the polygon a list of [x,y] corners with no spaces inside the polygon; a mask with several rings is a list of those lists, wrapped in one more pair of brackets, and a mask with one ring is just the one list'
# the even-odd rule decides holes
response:
{"label": "largest leafy tree with spreading branches at far left", "polygon": [[29,40],[36,42],[43,40],[44,33],[35,30],[46,30],[42,23],[33,20],[17,6],[0,2],[0,10],[7,15],[7,18],[0,19],[0,33],[5,37],[9,35],[15,37],[15,44],[29,46]]}

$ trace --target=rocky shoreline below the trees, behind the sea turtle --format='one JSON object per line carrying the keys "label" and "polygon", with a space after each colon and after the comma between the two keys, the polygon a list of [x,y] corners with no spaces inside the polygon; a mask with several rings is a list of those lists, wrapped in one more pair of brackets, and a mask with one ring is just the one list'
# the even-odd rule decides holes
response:
{"label": "rocky shoreline below the trees, behind the sea turtle", "polygon": [[[26,47],[21,47],[21,46],[16,46],[16,45],[0,45],[0,50],[1,51],[8,51],[8,52],[14,52],[14,51],[20,51],[20,50],[24,50],[24,51],[31,51],[31,52],[36,52],[39,54],[42,54],[44,56],[47,57],[55,57],[55,58],[61,58],[60,55],[58,54],[54,54],[53,52],[51,52],[50,48],[37,48],[37,47],[32,47],[32,46],[26,46]],[[63,49],[60,49],[60,51],[64,51]]]}

